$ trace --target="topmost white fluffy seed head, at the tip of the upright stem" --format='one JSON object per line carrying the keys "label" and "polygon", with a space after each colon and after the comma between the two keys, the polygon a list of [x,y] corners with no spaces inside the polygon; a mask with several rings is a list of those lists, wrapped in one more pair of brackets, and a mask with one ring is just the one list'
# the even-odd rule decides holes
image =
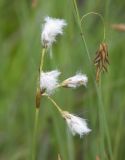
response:
{"label": "topmost white fluffy seed head, at the tip of the upright stem", "polygon": [[49,48],[56,41],[57,35],[63,34],[63,28],[67,25],[63,19],[45,17],[42,27],[41,42],[44,47]]}

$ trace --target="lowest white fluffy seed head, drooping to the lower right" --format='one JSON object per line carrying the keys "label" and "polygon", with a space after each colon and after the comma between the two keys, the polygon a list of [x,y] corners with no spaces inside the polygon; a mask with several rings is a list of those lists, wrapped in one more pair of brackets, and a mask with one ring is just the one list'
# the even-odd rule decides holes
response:
{"label": "lowest white fluffy seed head, drooping to the lower right", "polygon": [[62,116],[65,118],[67,125],[73,135],[79,134],[81,138],[83,135],[88,134],[91,131],[91,129],[88,128],[85,119],[74,116],[67,111],[63,111]]}

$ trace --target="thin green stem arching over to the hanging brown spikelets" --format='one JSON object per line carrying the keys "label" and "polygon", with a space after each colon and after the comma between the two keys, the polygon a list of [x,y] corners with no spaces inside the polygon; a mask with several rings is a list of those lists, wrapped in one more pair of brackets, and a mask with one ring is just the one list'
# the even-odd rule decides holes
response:
{"label": "thin green stem arching over to the hanging brown spikelets", "polygon": [[105,41],[105,22],[104,22],[104,18],[103,18],[103,16],[102,16],[101,14],[99,14],[99,13],[97,13],[97,12],[89,12],[89,13],[86,13],[85,15],[82,16],[82,18],[81,18],[81,20],[80,20],[81,24],[82,24],[82,22],[83,22],[83,19],[84,19],[85,17],[87,17],[88,15],[91,15],[91,14],[94,14],[94,15],[97,15],[97,16],[100,17],[100,19],[101,19],[101,21],[102,21],[102,23],[103,23],[103,26],[104,26],[104,28],[103,28],[103,40],[102,40],[102,41]]}

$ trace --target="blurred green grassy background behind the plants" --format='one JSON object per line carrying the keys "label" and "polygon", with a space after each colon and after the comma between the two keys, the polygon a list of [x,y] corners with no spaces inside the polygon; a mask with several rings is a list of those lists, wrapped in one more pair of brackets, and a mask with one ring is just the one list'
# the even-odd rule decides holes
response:
{"label": "blurred green grassy background behind the plants", "polygon": [[[0,160],[30,159],[35,115],[35,92],[41,56],[41,25],[45,16],[66,19],[64,35],[46,55],[44,70],[59,69],[60,80],[77,71],[89,77],[87,88],[60,89],[53,98],[64,109],[87,119],[92,132],[73,137],[53,105],[41,101],[37,159],[125,159],[125,33],[111,28],[125,22],[124,0],[79,0],[80,15],[95,11],[105,19],[110,66],[102,74],[100,109],[93,75],[72,0],[0,0]],[[99,17],[83,23],[86,43],[93,60],[103,37]],[[102,157],[102,151],[104,156]],[[102,157],[102,158],[101,158]]]}

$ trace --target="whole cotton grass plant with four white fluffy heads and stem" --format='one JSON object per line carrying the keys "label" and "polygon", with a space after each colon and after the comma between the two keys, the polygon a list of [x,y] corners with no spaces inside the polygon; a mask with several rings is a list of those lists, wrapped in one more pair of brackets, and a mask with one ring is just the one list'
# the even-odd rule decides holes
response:
{"label": "whole cotton grass plant with four white fluffy heads and stem", "polygon": [[36,113],[35,113],[35,125],[34,125],[34,137],[33,137],[33,150],[32,160],[36,159],[36,139],[37,139],[37,126],[40,110],[41,97],[47,97],[56,109],[59,111],[60,116],[65,119],[66,124],[73,135],[78,134],[81,138],[88,134],[91,129],[88,128],[85,119],[78,117],[68,111],[62,110],[62,107],[58,105],[51,95],[54,94],[57,88],[77,88],[80,86],[87,86],[88,77],[85,74],[77,73],[75,76],[69,77],[62,82],[59,82],[59,76],[61,74],[58,70],[44,71],[44,57],[48,50],[56,42],[58,35],[63,35],[63,28],[67,25],[63,19],[56,19],[46,17],[41,31],[41,43],[42,43],[42,55],[39,66],[39,74],[36,90]]}

